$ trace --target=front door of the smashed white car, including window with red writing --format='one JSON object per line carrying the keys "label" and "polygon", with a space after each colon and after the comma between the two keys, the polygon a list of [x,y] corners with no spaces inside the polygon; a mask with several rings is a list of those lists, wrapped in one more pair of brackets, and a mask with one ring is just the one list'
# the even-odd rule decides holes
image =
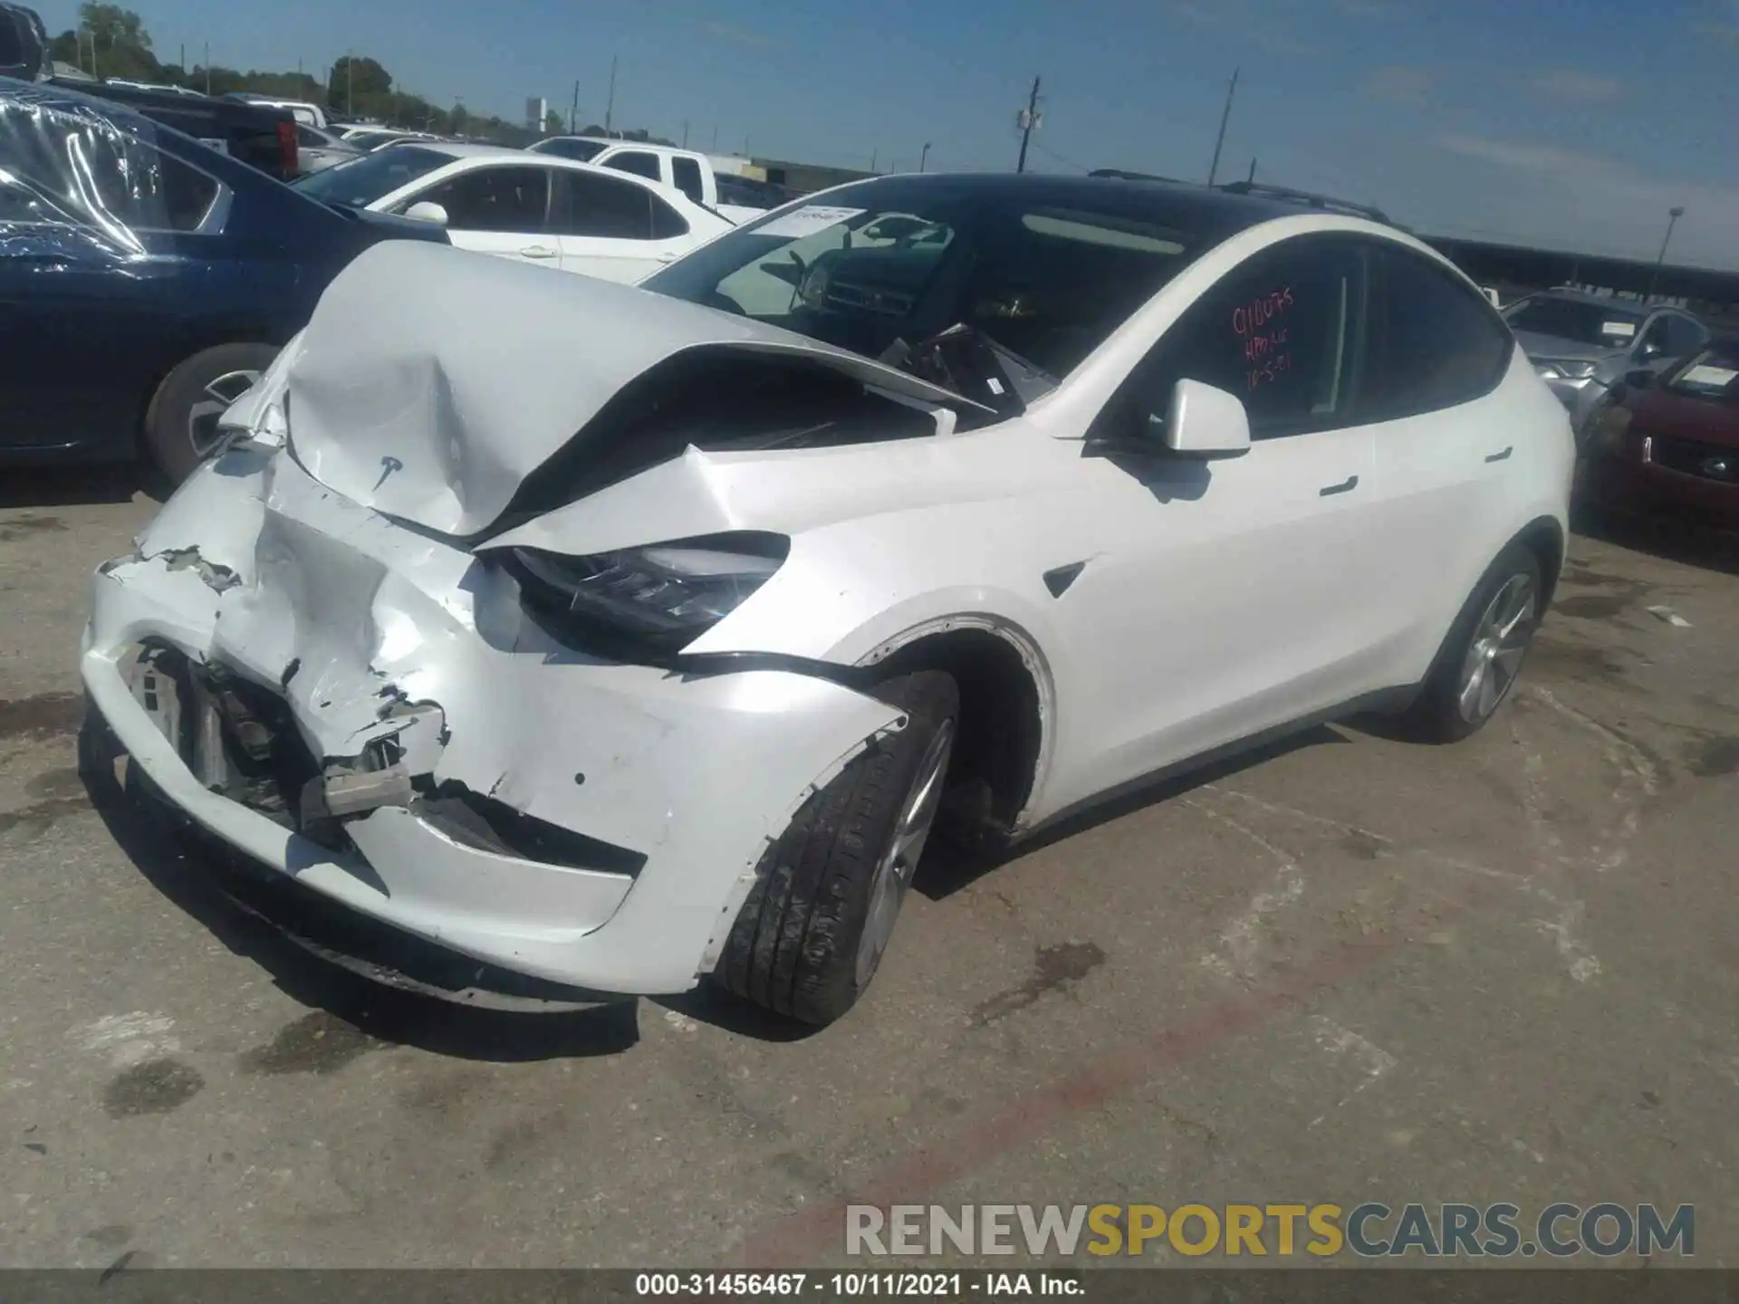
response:
{"label": "front door of the smashed white car, including window with red writing", "polygon": [[[1096,422],[1163,414],[1189,377],[1236,395],[1252,445],[1202,461],[1083,452],[1104,539],[1068,591],[1104,789],[1372,687],[1370,431],[1356,245],[1308,235],[1252,256],[1191,304]],[[1153,442],[1148,442],[1153,443]],[[1104,450],[1096,452],[1096,447]]]}

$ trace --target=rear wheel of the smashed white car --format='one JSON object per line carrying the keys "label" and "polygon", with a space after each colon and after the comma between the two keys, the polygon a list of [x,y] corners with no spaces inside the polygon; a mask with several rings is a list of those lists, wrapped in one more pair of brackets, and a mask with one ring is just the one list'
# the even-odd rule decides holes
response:
{"label": "rear wheel of the smashed white car", "polygon": [[1476,732],[1515,687],[1539,628],[1539,556],[1525,544],[1506,548],[1475,586],[1443,640],[1424,690],[1405,723],[1431,742]]}

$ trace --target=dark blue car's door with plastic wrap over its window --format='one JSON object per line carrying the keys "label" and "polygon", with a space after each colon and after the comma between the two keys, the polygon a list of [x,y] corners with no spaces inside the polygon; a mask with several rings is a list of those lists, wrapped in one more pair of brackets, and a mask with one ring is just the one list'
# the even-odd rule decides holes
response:
{"label": "dark blue car's door with plastic wrap over its window", "polygon": [[230,191],[104,120],[31,130],[0,169],[0,447],[132,457]]}

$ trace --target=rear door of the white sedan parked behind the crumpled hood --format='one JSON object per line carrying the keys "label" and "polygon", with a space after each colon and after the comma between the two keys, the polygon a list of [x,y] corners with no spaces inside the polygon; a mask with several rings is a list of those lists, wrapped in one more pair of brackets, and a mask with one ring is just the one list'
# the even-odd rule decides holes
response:
{"label": "rear door of the white sedan parked behind the crumpled hood", "polygon": [[631,283],[697,242],[689,221],[652,186],[581,169],[560,169],[556,179],[551,223],[563,271]]}

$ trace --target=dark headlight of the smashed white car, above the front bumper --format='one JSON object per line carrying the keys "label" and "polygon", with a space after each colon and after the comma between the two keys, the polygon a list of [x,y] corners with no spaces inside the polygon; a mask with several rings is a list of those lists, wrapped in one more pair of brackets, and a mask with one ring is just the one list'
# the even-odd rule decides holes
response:
{"label": "dark headlight of the smashed white car, above the front bumper", "polygon": [[788,546],[784,536],[729,534],[591,556],[508,551],[532,607],[682,647],[765,584]]}

